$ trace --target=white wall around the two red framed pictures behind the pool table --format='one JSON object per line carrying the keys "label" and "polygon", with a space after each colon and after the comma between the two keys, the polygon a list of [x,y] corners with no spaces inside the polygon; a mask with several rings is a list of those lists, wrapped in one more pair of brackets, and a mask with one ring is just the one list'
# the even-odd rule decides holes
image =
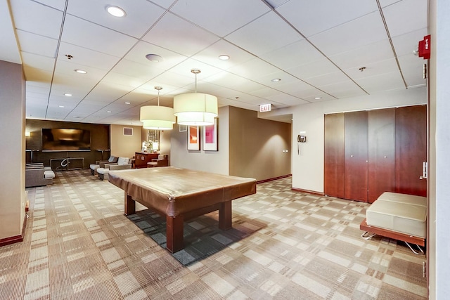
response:
{"label": "white wall around the two red framed pictures behind the pool table", "polygon": [[[174,167],[229,175],[229,107],[219,107],[219,151],[187,150],[188,134],[179,132],[178,124],[170,139],[170,164]],[[200,133],[201,134],[201,133]]]}

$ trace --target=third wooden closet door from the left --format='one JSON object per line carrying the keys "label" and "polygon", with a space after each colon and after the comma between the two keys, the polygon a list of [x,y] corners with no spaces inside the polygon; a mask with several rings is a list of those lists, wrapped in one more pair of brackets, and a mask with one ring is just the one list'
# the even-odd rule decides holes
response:
{"label": "third wooden closet door from the left", "polygon": [[368,202],[395,190],[395,109],[368,112]]}

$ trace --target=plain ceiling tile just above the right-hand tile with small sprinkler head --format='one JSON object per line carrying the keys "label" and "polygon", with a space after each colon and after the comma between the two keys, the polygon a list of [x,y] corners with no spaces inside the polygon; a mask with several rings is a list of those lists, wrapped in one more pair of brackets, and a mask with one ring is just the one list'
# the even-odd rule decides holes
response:
{"label": "plain ceiling tile just above the right-hand tile with small sprinkler head", "polygon": [[338,67],[345,70],[351,67],[364,67],[369,63],[375,63],[393,57],[394,52],[392,51],[391,44],[388,39],[384,39],[383,41],[376,41],[375,43],[359,48],[353,48],[347,52],[330,56],[329,58]]}

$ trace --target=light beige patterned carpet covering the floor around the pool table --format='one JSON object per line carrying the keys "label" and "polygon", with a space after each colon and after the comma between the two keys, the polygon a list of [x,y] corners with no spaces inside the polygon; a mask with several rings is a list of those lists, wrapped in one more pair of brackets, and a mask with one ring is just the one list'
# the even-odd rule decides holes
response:
{"label": "light beige patterned carpet covering the floor around the pool table", "polygon": [[0,248],[0,299],[426,299],[424,256],[366,241],[368,204],[290,190],[291,178],[185,223],[165,249],[165,220],[124,216],[124,193],[88,170],[28,188],[25,241]]}

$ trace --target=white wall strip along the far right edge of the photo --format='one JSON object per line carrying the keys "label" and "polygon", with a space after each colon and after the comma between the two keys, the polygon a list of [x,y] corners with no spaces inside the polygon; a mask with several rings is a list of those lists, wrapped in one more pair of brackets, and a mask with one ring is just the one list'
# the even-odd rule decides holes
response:
{"label": "white wall strip along the far right edge of the photo", "polygon": [[450,299],[450,1],[430,1],[429,299]]}

